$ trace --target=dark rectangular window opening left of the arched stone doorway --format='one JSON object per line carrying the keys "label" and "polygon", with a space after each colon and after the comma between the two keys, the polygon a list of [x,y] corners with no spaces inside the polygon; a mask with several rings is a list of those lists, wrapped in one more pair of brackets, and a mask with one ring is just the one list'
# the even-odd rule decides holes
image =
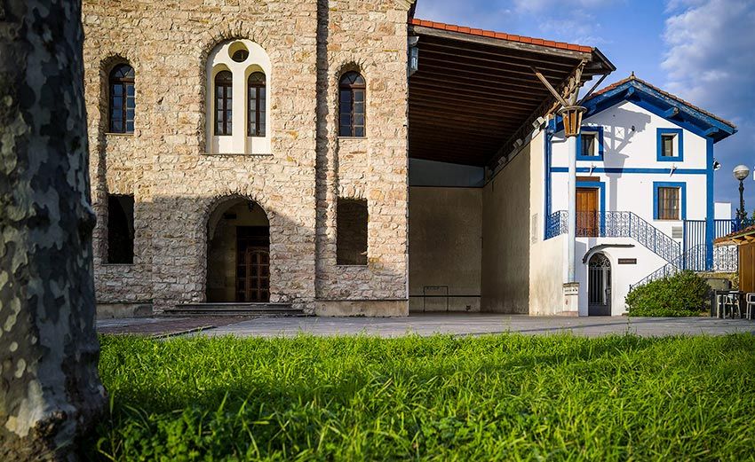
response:
{"label": "dark rectangular window opening left of the arched stone doorway", "polygon": [[134,197],[107,195],[107,262],[134,262]]}

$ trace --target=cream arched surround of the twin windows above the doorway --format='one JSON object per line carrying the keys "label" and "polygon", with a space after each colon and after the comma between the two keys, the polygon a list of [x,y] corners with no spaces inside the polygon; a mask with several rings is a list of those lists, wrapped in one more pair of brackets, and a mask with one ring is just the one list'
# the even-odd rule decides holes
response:
{"label": "cream arched surround of the twin windows above the doorway", "polygon": [[[246,50],[249,56],[242,62],[233,59],[236,51]],[[222,71],[233,74],[233,126],[230,136],[216,136],[215,123],[215,75]],[[266,76],[266,134],[265,137],[247,136],[247,84],[250,74],[261,72]],[[272,63],[266,51],[258,43],[248,39],[231,39],[216,45],[207,56],[205,66],[205,134],[208,154],[270,154],[270,101]]]}

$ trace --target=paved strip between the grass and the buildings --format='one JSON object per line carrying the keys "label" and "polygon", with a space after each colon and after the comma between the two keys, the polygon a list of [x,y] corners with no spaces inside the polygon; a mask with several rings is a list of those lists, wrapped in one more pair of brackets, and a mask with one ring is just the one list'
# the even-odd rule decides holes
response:
{"label": "paved strip between the grass and the buildings", "polygon": [[644,336],[676,334],[753,333],[755,322],[711,317],[528,317],[496,314],[425,314],[403,318],[370,317],[264,317],[264,318],[142,318],[107,319],[97,323],[101,333],[180,333],[204,327],[190,335],[292,336],[368,334],[395,337],[416,333],[547,334],[570,332],[599,336],[636,333]]}

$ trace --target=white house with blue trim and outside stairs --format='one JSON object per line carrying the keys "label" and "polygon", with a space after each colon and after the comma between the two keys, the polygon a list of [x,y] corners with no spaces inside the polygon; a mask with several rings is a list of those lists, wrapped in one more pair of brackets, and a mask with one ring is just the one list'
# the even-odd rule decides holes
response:
{"label": "white house with blue trim and outside stairs", "polygon": [[[584,106],[576,138],[579,288],[571,289],[578,301],[576,309],[564,311],[621,315],[632,285],[683,269],[726,270],[735,262],[726,248],[714,253],[712,246],[737,225],[730,207],[713,200],[714,146],[733,135],[735,126],[634,75]],[[542,253],[539,247],[565,252],[566,245],[549,242],[568,239],[568,142],[558,119],[545,129],[544,166],[536,170],[544,175],[544,239],[533,243],[533,254]],[[544,286],[555,286],[552,282]],[[552,290],[540,295],[546,294],[560,296]]]}

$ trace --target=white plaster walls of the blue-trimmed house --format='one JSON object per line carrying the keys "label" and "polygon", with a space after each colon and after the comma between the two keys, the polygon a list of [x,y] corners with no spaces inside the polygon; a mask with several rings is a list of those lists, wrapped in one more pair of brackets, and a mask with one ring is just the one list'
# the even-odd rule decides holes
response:
{"label": "white plaster walls of the blue-trimmed house", "polygon": [[[707,144],[703,137],[683,130],[684,160],[679,162],[657,161],[657,129],[680,129],[679,125],[648,112],[631,102],[621,102],[599,114],[584,120],[586,126],[603,127],[603,161],[577,161],[577,168],[676,168],[704,170],[707,165]],[[568,146],[563,132],[552,139],[552,167],[568,167]],[[544,179],[544,172],[541,176]],[[703,173],[634,173],[634,172],[579,172],[577,176],[598,178],[605,184],[605,204],[600,208],[608,211],[630,211],[648,223],[672,236],[674,227],[683,225],[681,220],[654,220],[654,182],[687,184],[686,218],[704,220],[707,212],[707,183]],[[568,173],[553,172],[552,211],[568,209]],[[542,205],[540,209],[542,209]],[[723,215],[722,212],[719,212]],[[564,236],[564,239],[566,237]],[[554,240],[554,239],[549,239]],[[681,242],[681,239],[677,239]],[[632,244],[632,248],[608,248],[603,251],[611,261],[612,269],[612,315],[625,312],[624,299],[629,286],[636,284],[653,271],[664,266],[663,258],[631,238],[578,238],[576,239],[576,280],[580,283],[579,314],[587,315],[587,265],[582,262],[584,254],[600,244]],[[535,248],[533,246],[533,253]],[[552,250],[559,247],[553,243]],[[566,256],[564,250],[564,257]],[[636,265],[618,265],[619,258],[636,258]],[[536,259],[533,258],[533,262]]]}

